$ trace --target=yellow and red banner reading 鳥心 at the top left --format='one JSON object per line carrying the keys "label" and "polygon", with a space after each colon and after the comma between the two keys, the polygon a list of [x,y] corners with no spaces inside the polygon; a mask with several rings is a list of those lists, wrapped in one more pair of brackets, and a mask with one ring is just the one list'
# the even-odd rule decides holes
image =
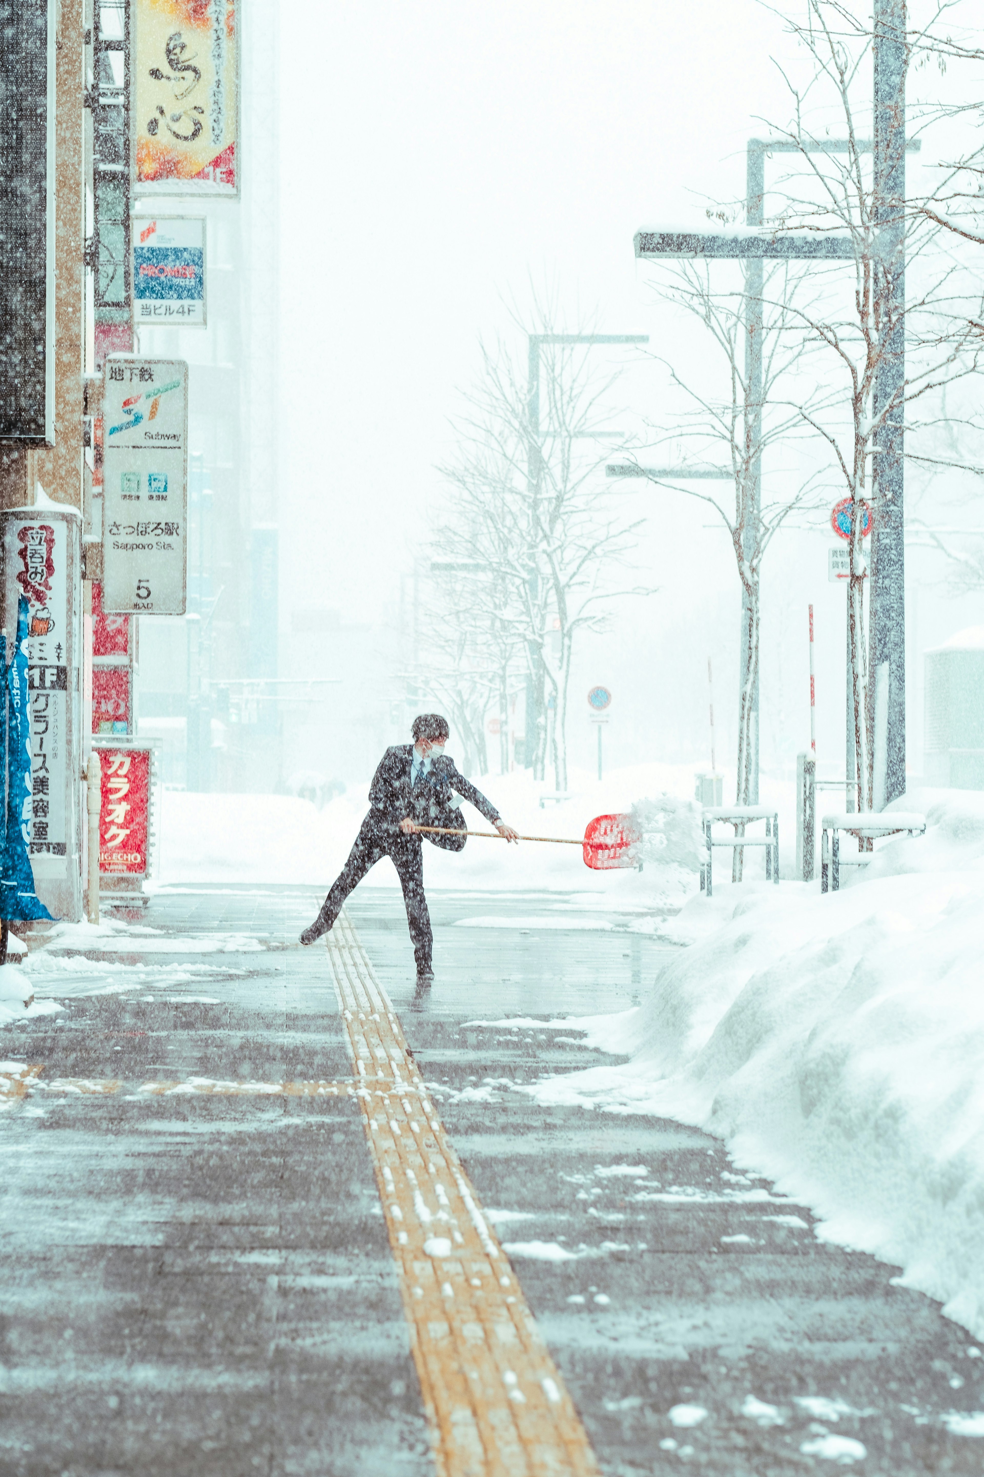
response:
{"label": "yellow and red banner reading \u9ce5\u5fc3 at the top left", "polygon": [[131,0],[142,195],[239,191],[235,0]]}

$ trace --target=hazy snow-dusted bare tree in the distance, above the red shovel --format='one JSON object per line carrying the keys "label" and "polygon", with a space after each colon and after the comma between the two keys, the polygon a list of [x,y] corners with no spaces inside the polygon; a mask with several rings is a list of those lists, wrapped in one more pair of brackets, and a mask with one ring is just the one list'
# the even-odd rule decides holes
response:
{"label": "hazy snow-dusted bare tree in the distance, above the red shovel", "polygon": [[[540,316],[540,334],[550,321]],[[469,619],[484,623],[487,650],[519,650],[527,672],[553,699],[549,736],[555,784],[568,784],[567,705],[571,657],[584,631],[600,631],[611,603],[648,586],[617,579],[639,523],[609,511],[597,449],[612,375],[595,375],[583,347],[544,344],[540,390],[541,433],[530,445],[527,387],[521,365],[499,343],[482,346],[482,369],[457,424],[459,456],[443,468],[453,487],[453,515],[440,532],[443,551],[484,569],[491,604]],[[500,694],[503,682],[500,678]],[[502,699],[500,699],[502,700]],[[546,712],[546,703],[536,705]],[[543,775],[546,728],[536,743],[534,774]]]}

